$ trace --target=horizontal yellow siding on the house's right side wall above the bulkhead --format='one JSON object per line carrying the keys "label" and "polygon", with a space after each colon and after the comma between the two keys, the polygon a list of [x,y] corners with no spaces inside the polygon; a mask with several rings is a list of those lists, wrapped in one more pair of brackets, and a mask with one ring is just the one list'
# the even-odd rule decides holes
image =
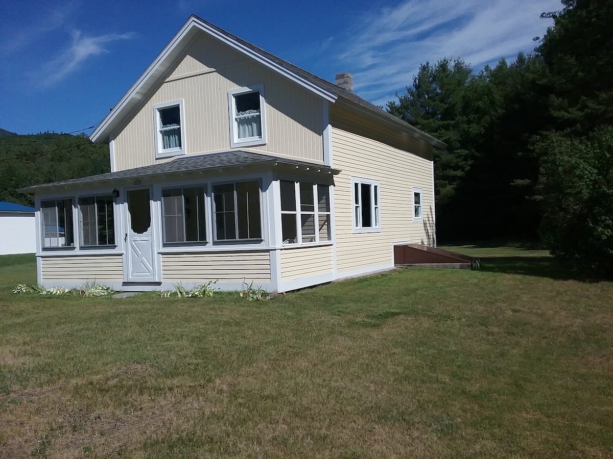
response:
{"label": "horizontal yellow siding on the house's right side wall above the bulkhead", "polygon": [[[432,161],[333,127],[337,272],[391,264],[393,242],[433,244]],[[427,151],[418,151],[427,155]],[[381,231],[353,233],[351,177],[380,182]],[[422,188],[423,222],[413,222],[412,188]]]}

